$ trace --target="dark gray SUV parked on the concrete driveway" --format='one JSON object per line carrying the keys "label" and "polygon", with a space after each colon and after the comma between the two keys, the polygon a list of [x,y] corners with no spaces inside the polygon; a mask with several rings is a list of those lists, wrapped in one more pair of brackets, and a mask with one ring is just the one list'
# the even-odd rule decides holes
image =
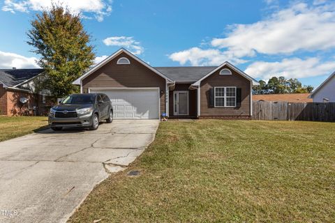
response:
{"label": "dark gray SUV parked on the concrete driveway", "polygon": [[54,131],[63,127],[87,127],[96,130],[100,121],[113,121],[110,98],[103,93],[73,94],[50,109],[49,125]]}

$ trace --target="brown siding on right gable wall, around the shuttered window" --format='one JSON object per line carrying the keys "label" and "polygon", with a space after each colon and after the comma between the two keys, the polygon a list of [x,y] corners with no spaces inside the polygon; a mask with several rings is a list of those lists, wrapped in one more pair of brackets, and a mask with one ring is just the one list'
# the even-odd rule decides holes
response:
{"label": "brown siding on right gable wall, around the shuttered window", "polygon": [[[232,75],[219,75],[223,68],[201,81],[200,116],[250,116],[250,81],[230,68],[228,69],[232,72]],[[241,88],[241,107],[209,107],[209,89],[216,86]]]}

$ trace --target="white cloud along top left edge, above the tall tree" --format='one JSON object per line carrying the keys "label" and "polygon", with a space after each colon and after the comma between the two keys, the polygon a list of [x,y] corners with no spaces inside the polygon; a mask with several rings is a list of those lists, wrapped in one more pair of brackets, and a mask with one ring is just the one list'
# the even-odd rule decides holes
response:
{"label": "white cloud along top left edge, above the tall tree", "polygon": [[83,17],[89,18],[87,13],[93,13],[98,21],[112,12],[112,0],[5,0],[2,10],[15,13],[15,11],[28,13],[30,10],[39,11],[50,8],[52,2],[67,6],[73,13],[83,13]]}

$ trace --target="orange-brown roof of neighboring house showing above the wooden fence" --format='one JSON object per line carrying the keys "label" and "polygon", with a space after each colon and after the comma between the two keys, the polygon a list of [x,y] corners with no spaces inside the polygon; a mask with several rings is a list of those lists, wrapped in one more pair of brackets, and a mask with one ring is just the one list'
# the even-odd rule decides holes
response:
{"label": "orange-brown roof of neighboring house showing above the wooden fence", "polygon": [[253,95],[253,101],[273,101],[273,102],[313,102],[308,98],[309,93],[278,93],[267,95]]}

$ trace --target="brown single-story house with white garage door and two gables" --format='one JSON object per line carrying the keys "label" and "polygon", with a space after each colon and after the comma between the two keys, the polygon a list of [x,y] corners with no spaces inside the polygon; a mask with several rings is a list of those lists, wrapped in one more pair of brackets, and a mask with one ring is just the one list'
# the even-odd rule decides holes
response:
{"label": "brown single-story house with white garage door and two gables", "polygon": [[151,67],[119,49],[73,84],[82,93],[105,93],[116,119],[249,119],[258,82],[232,64],[214,67]]}

